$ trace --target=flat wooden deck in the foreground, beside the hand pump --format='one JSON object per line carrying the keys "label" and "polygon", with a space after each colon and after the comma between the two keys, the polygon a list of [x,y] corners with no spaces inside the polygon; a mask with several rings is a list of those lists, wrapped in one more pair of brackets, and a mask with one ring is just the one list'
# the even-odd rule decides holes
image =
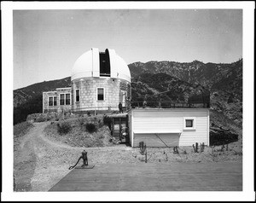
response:
{"label": "flat wooden deck in the foreground, beside the hand pump", "polygon": [[73,169],[49,191],[241,191],[241,162],[141,163]]}

